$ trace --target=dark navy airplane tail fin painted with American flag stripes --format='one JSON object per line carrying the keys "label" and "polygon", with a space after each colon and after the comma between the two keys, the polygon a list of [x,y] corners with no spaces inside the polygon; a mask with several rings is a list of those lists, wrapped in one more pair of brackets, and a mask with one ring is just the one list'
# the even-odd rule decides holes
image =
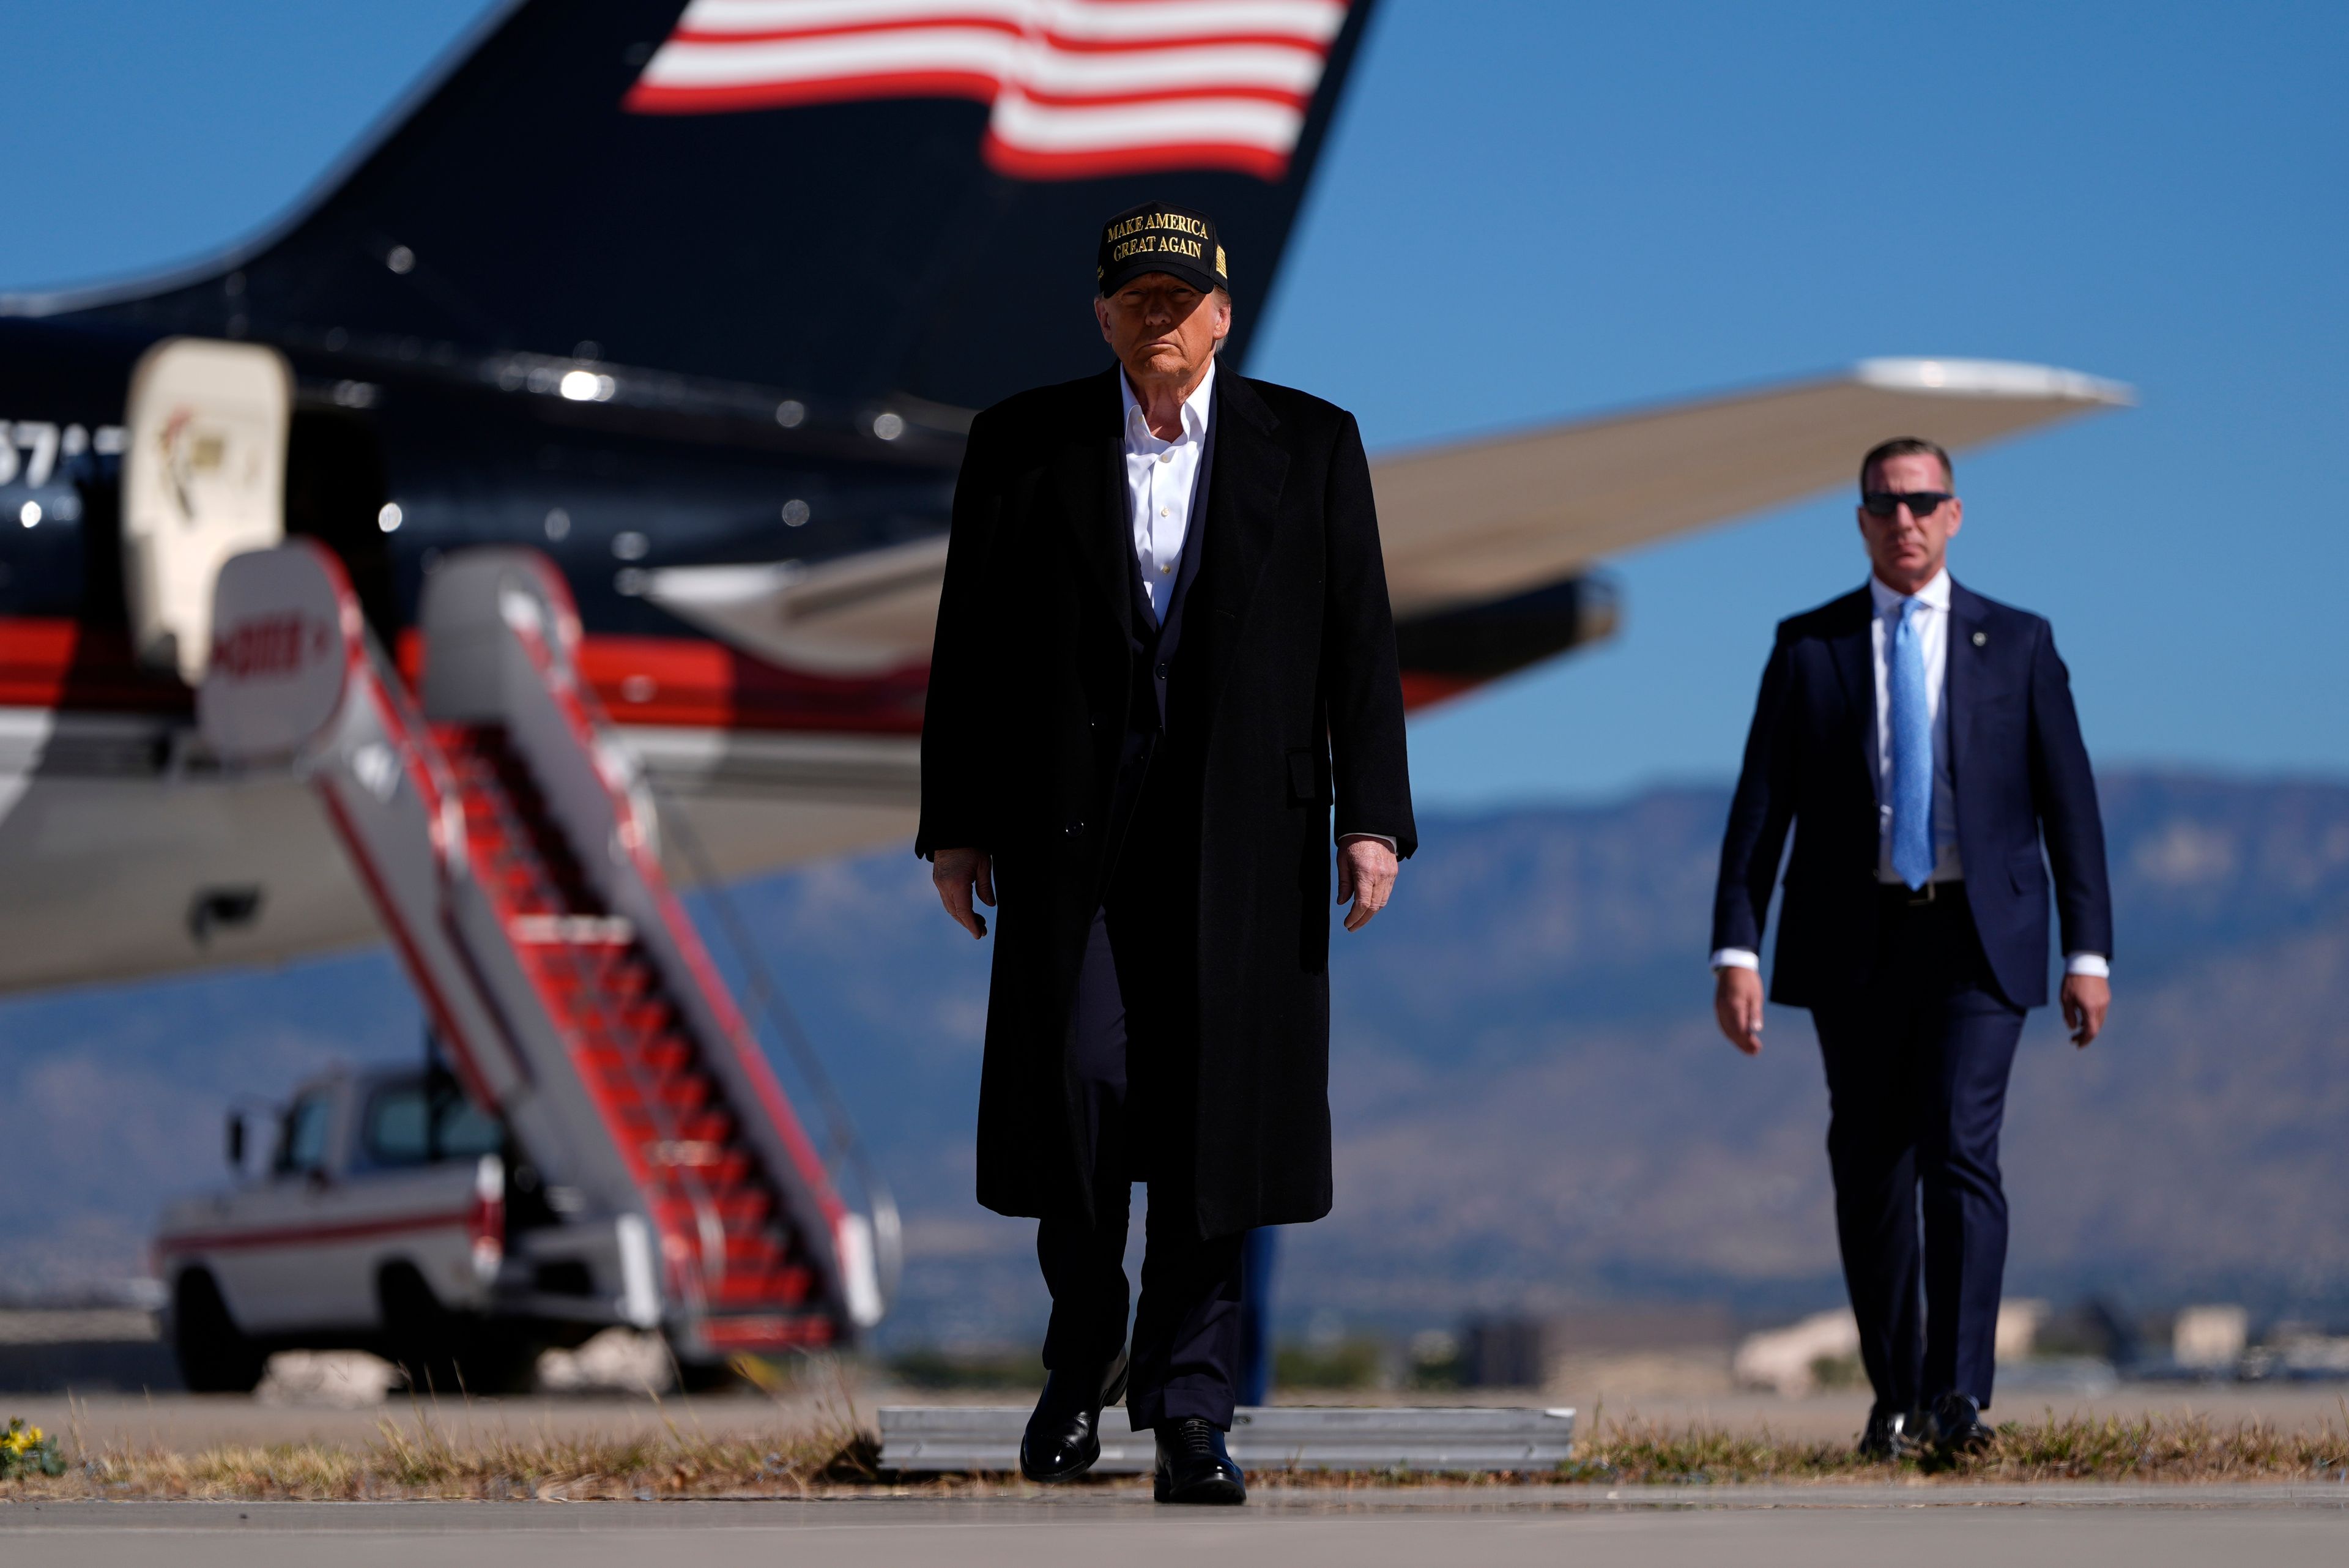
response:
{"label": "dark navy airplane tail fin painted with American flag stripes", "polygon": [[1135,202],[1214,214],[1247,331],[1372,5],[517,0],[272,233],[0,308],[980,407],[1099,360]]}

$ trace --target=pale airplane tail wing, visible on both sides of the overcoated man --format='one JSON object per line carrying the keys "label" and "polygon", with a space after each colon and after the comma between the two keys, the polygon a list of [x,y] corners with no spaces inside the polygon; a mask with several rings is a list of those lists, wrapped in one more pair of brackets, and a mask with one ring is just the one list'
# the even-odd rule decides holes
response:
{"label": "pale airplane tail wing, visible on both sides of the overcoated man", "polygon": [[[1557,583],[1602,555],[1853,484],[1891,435],[1961,451],[2126,407],[2131,388],[2046,364],[1863,360],[1750,393],[1372,461],[1398,621]],[[803,569],[667,567],[646,597],[775,663],[834,675],[930,654],[944,538]]]}

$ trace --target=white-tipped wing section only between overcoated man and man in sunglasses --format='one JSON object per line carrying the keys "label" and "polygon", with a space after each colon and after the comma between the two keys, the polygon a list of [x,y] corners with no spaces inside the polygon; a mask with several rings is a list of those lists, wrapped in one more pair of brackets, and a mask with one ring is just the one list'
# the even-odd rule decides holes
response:
{"label": "white-tipped wing section only between overcoated man and man in sunglasses", "polygon": [[1616,555],[1856,484],[1863,451],[1952,451],[2126,407],[2131,388],[2046,364],[1863,360],[1703,402],[1374,458],[1379,541],[1409,621],[1555,583]]}

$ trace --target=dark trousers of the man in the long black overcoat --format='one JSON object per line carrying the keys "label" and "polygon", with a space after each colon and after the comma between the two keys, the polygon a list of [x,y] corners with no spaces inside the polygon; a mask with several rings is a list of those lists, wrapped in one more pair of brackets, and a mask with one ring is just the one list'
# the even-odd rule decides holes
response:
{"label": "dark trousers of the man in the long black overcoat", "polygon": [[1196,1060],[1184,1027],[1191,985],[1160,938],[1158,922],[1120,922],[1116,905],[1092,919],[1069,1067],[1085,1103],[1095,1213],[1052,1215],[1036,1227],[1036,1260],[1052,1293],[1043,1363],[1088,1375],[1125,1345],[1125,1227],[1132,1182],[1146,1180],[1128,1420],[1144,1432],[1205,1415],[1231,1429],[1247,1234],[1198,1234],[1189,1138]]}

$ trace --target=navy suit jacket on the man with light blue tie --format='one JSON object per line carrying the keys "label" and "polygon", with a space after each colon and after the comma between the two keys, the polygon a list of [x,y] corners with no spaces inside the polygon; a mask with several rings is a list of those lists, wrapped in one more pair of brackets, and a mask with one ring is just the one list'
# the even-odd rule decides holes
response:
{"label": "navy suit jacket on the man with light blue tie", "polygon": [[[1712,947],[1762,950],[1788,827],[1771,1001],[1867,985],[1877,954],[1877,677],[1863,585],[1778,623],[1729,806]],[[2041,616],[1950,585],[1950,773],[1966,903],[1997,987],[2048,999],[2048,865],[2065,952],[2112,954],[2112,889],[2072,675]],[[2041,858],[2041,839],[2046,858]]]}

